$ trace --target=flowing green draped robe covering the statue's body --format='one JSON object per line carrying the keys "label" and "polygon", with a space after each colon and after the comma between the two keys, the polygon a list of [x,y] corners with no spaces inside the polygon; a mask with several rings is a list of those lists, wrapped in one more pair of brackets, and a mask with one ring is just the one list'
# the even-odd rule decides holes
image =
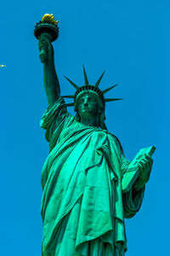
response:
{"label": "flowing green draped robe covering the statue's body", "polygon": [[122,194],[129,161],[118,139],[77,122],[62,97],[41,126],[50,148],[41,180],[42,255],[124,255],[124,218],[139,211],[144,189]]}

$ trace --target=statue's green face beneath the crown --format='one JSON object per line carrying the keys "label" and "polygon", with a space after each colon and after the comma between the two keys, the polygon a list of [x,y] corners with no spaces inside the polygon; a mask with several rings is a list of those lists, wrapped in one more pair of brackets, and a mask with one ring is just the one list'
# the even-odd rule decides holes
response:
{"label": "statue's green face beneath the crown", "polygon": [[83,95],[77,102],[77,112],[81,117],[96,116],[99,114],[99,104],[95,96]]}

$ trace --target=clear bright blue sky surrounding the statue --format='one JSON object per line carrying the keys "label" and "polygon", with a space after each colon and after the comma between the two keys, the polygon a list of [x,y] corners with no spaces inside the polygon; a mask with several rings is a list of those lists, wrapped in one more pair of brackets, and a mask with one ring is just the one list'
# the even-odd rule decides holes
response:
{"label": "clear bright blue sky surrounding the statue", "polygon": [[48,143],[39,120],[47,108],[34,25],[45,13],[59,20],[55,65],[63,95],[106,69],[106,124],[129,160],[156,146],[150,182],[137,215],[126,221],[127,256],[164,255],[169,244],[170,3],[167,0],[2,2],[1,41],[1,255],[40,256],[40,185]]}

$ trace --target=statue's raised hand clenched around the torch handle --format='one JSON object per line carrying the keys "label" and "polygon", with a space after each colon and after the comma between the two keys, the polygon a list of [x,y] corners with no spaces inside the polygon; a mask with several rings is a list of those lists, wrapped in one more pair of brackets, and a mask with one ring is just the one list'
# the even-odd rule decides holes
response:
{"label": "statue's raised hand clenched around the torch handle", "polygon": [[45,34],[42,34],[38,41],[40,51],[40,60],[42,63],[54,61],[54,48],[50,39]]}

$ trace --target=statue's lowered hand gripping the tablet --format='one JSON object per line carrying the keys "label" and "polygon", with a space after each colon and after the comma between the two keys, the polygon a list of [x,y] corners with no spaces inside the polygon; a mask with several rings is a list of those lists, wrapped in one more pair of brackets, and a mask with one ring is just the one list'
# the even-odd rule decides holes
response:
{"label": "statue's lowered hand gripping the tablet", "polygon": [[150,154],[144,154],[144,157],[139,161],[140,174],[135,183],[133,184],[133,189],[142,189],[150,179],[151,167],[153,160]]}

